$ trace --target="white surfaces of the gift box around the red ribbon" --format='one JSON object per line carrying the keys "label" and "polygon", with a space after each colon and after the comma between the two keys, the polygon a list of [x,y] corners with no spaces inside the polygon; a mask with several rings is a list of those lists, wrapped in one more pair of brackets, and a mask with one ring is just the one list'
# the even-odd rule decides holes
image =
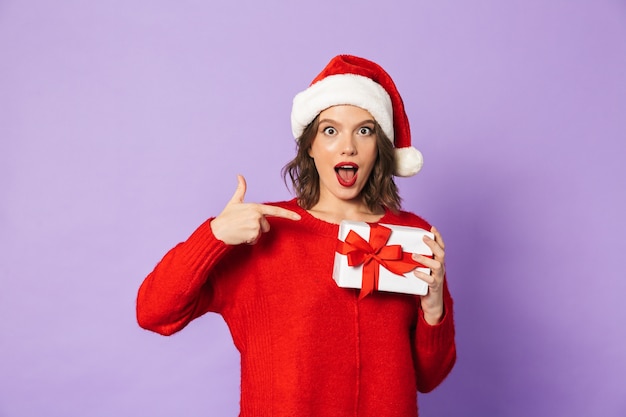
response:
{"label": "white surfaces of the gift box around the red ribbon", "polygon": [[[432,256],[432,251],[424,243],[423,237],[429,236],[434,239],[431,232],[417,227],[397,226],[390,224],[381,224],[381,226],[391,229],[391,235],[385,243],[385,246],[400,245],[403,252],[418,253],[421,255]],[[339,225],[338,239],[344,242],[348,233],[353,230],[365,241],[370,239],[370,225],[365,222],[354,222],[344,220]],[[426,295],[428,293],[428,284],[417,278],[413,271],[402,275],[393,273],[383,265],[378,267],[378,291],[390,291],[405,294]],[[417,267],[418,271],[430,274],[429,268]],[[333,266],[333,279],[337,285],[343,288],[362,288],[363,282],[363,264],[350,266],[348,264],[348,256],[339,252],[335,252],[335,262]]]}

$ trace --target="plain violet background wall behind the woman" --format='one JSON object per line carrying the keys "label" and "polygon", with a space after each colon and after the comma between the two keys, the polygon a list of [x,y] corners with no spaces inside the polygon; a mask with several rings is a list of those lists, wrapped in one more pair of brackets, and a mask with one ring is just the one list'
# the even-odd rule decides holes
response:
{"label": "plain violet background wall behind the woman", "polygon": [[0,1],[0,417],[235,416],[221,318],[135,295],[248,179],[290,198],[289,112],[382,64],[444,233],[458,364],[423,416],[626,415],[622,0]]}

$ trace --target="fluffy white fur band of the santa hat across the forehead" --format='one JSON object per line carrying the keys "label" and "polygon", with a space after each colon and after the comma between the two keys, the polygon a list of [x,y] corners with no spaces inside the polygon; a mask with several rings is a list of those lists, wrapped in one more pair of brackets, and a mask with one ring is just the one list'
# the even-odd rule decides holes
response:
{"label": "fluffy white fur band of the santa hat across the forehead", "polygon": [[370,112],[393,143],[393,106],[380,84],[356,74],[336,74],[314,83],[293,99],[291,131],[298,139],[304,129],[329,107],[349,104]]}

